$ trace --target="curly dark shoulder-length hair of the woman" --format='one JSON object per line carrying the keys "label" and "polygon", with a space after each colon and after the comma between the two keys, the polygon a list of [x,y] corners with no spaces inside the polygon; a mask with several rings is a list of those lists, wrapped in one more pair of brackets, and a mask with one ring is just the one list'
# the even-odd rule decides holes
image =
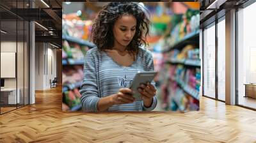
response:
{"label": "curly dark shoulder-length hair of the woman", "polygon": [[[144,10],[144,11],[143,11]],[[147,10],[136,3],[112,2],[107,4],[99,11],[92,26],[93,43],[99,50],[112,49],[114,45],[113,26],[122,15],[133,15],[136,18],[136,33],[132,41],[127,45],[128,52],[138,54],[138,47],[147,46],[146,37],[150,20],[146,13]]]}

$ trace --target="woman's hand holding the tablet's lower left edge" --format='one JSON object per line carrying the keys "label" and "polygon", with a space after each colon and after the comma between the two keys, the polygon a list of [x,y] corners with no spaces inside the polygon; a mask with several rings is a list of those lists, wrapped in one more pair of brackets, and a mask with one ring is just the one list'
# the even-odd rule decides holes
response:
{"label": "woman's hand holding the tablet's lower left edge", "polygon": [[129,88],[121,88],[118,93],[111,95],[111,103],[114,105],[132,103],[135,98],[132,96],[133,91]]}

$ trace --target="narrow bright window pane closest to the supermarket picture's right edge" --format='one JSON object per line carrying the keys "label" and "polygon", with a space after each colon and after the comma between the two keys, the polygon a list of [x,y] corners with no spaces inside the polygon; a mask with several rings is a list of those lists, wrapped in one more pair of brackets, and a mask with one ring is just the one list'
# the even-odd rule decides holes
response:
{"label": "narrow bright window pane closest to the supermarket picture's right edge", "polygon": [[204,30],[204,95],[215,98],[215,25]]}

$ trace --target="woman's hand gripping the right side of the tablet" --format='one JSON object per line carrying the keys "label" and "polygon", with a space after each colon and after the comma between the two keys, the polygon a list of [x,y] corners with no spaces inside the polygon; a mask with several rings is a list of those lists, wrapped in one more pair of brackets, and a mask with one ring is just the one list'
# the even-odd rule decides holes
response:
{"label": "woman's hand gripping the right side of the tablet", "polygon": [[153,102],[153,97],[156,95],[155,87],[147,82],[147,84],[140,84],[138,91],[141,94],[144,106],[150,107]]}

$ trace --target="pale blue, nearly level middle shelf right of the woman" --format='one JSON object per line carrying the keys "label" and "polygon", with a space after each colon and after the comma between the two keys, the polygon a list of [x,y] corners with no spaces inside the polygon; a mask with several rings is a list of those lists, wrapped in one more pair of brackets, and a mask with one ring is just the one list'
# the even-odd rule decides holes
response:
{"label": "pale blue, nearly level middle shelf right of the woman", "polygon": [[200,59],[170,59],[168,63],[184,64],[185,66],[201,66]]}

